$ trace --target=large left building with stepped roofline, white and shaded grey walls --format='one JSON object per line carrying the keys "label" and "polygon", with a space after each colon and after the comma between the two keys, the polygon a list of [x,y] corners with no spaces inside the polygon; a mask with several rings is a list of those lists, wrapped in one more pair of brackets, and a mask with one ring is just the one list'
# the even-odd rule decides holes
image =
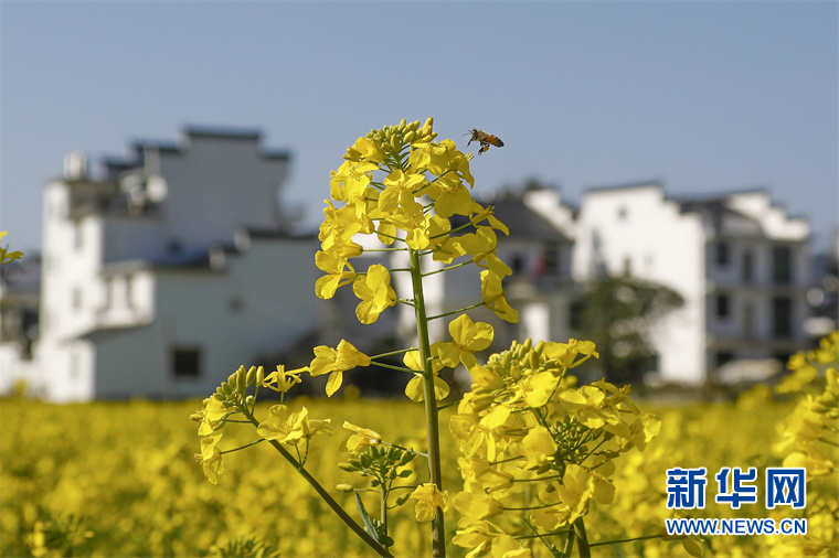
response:
{"label": "large left building with stepped roofline, white and shaded grey walls", "polygon": [[44,192],[35,391],[205,396],[311,333],[316,239],[287,234],[288,162],[256,131],[195,128],[99,179],[68,158]]}

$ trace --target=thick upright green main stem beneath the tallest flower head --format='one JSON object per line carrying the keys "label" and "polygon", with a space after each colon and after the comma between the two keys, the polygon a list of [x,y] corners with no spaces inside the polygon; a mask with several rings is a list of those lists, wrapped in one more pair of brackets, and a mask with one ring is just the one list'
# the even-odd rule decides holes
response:
{"label": "thick upright green main stem beneath the tallest flower head", "polygon": [[[432,350],[428,340],[428,318],[425,313],[425,296],[423,294],[423,270],[420,266],[420,253],[411,250],[411,281],[414,288],[414,307],[416,314],[416,334],[420,345],[420,362],[423,363],[423,387],[425,390],[425,428],[428,434],[428,470],[432,484],[443,491],[443,466],[439,454],[439,417],[437,410],[437,394],[434,390],[434,368],[432,367]],[[432,552],[435,557],[446,556],[446,528],[443,509],[437,508],[437,515],[432,523]]]}

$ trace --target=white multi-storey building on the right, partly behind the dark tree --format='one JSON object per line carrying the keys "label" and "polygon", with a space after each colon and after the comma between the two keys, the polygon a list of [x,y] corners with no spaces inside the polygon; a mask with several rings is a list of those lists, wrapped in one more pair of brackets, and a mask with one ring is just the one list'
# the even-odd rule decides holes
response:
{"label": "white multi-storey building on the right, partly behind the dark tree", "polygon": [[580,207],[574,278],[629,275],[679,292],[684,305],[652,333],[663,382],[701,384],[735,360],[785,360],[806,343],[806,221],[765,191],[705,200],[659,184],[588,191]]}

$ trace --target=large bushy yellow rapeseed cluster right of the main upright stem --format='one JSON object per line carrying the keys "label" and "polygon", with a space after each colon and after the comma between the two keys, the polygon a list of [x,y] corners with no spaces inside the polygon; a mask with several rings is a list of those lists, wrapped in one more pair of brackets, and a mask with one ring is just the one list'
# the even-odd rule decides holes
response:
{"label": "large bushy yellow rapeseed cluster right of the main upright stem", "polygon": [[613,460],[658,434],[659,419],[628,388],[576,386],[569,371],[597,356],[588,341],[528,341],[470,369],[472,390],[450,421],[464,480],[453,543],[468,557],[530,556],[534,535],[551,552],[567,550],[591,503],[614,501]]}

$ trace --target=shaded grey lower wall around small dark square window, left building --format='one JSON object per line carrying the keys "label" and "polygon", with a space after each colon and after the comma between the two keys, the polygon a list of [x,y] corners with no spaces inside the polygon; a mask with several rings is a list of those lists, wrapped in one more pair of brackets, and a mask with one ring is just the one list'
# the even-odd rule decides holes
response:
{"label": "shaded grey lower wall around small dark square window, left building", "polygon": [[[319,322],[314,255],[311,239],[252,239],[217,272],[155,269],[155,321],[97,343],[96,396],[206,396],[240,365],[289,348]],[[200,351],[199,377],[171,374],[174,347]]]}

